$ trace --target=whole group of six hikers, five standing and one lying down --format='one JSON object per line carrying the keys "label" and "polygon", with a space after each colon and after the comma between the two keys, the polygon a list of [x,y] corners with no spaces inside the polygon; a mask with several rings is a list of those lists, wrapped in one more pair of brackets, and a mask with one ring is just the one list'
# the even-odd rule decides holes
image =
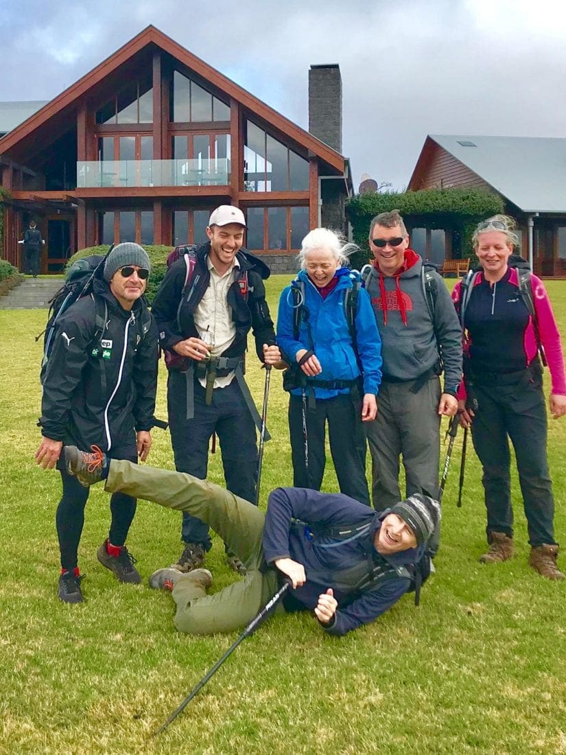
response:
{"label": "whole group of six hikers, five standing and one lying down", "polygon": [[[458,415],[471,428],[483,467],[488,550],[480,561],[513,554],[510,438],[529,564],[564,579],[540,363],[549,367],[550,411],[558,418],[566,413],[564,358],[543,283],[513,254],[512,219],[479,223],[473,240],[480,267],[452,297],[409,248],[398,211],[372,220],[374,260],[361,273],[347,266],[352,245],[331,230],[312,230],[302,242],[300,272],[281,293],[276,331],[263,284],[269,269],[243,247],[245,228],[240,209],[215,209],[208,242],[173,256],[151,313],[143,298],[149,257],[123,242],[106,256],[91,295],[57,321],[35,458],[44,468],[57,466],[63,482],[60,599],[83,600],[78,544],[88,486],[103,481],[112,494],[111,524],[97,557],[119,581],[140,582],[125,545],[137,498],[182,512],[183,552],[149,578],[151,587],[171,590],[177,629],[245,626],[285,580],[292,590],[278,609],[312,610],[334,634],[367,624],[408,590],[418,591],[438,551],[443,415]],[[289,392],[293,487],[275,489],[266,513],[257,507],[256,433],[266,428],[244,377],[250,331],[258,359],[284,370]],[[168,366],[175,472],[137,466],[158,422],[159,347]],[[327,423],[340,493],[320,492]],[[226,489],[206,482],[214,433]],[[243,576],[211,595],[209,527]]]}

